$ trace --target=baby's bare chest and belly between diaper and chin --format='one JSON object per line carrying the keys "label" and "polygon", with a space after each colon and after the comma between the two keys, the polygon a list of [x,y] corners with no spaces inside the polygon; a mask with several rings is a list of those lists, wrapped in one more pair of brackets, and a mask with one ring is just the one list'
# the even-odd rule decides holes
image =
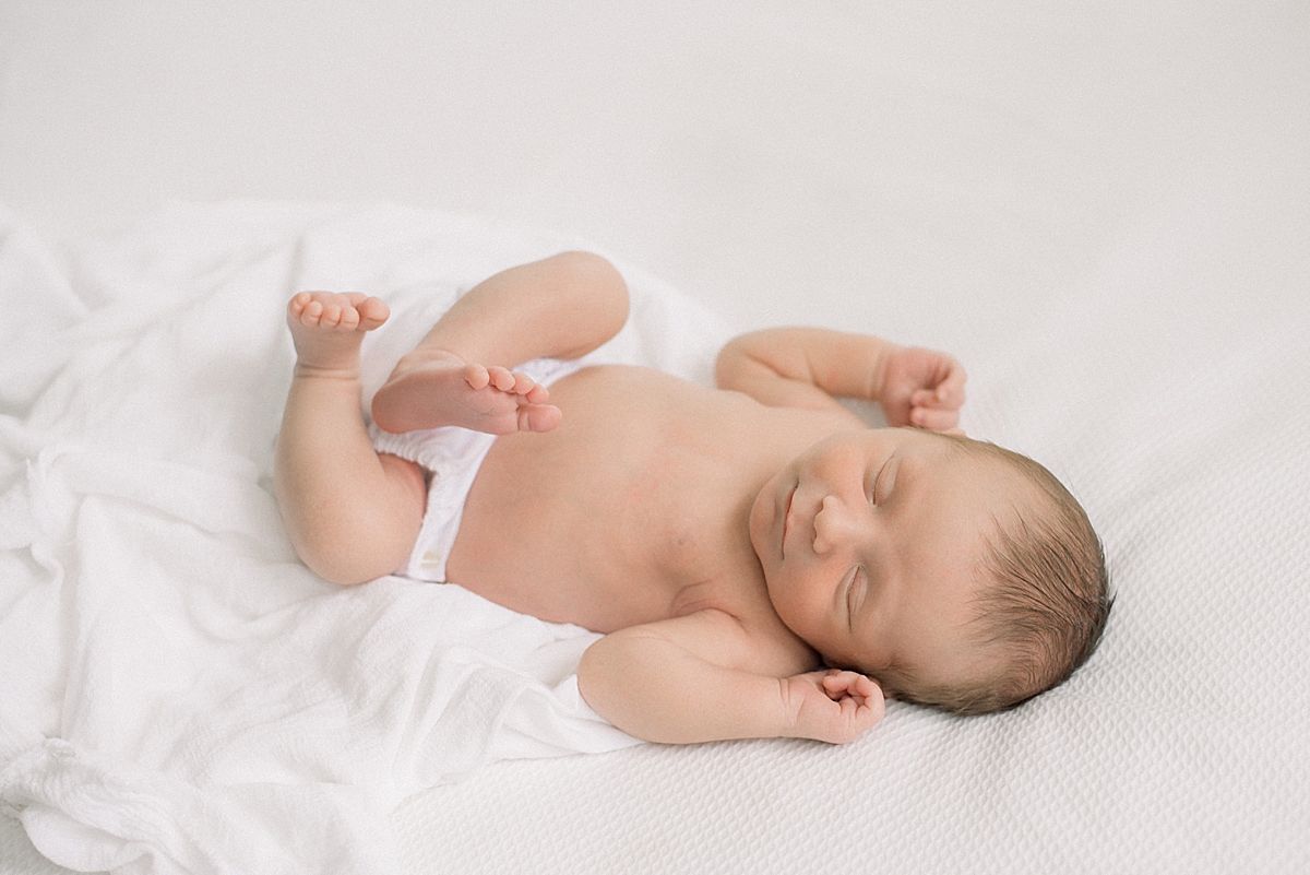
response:
{"label": "baby's bare chest and belly between diaper and chin", "polygon": [[722,557],[751,562],[744,524],[727,523],[740,453],[717,427],[734,401],[622,367],[587,368],[550,396],[563,411],[554,431],[507,435],[487,453],[448,580],[608,633],[676,616]]}

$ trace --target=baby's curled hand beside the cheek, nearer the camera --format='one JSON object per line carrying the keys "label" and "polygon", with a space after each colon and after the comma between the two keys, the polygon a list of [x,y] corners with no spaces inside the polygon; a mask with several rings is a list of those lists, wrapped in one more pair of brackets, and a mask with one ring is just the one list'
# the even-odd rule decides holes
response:
{"label": "baby's curled hand beside the cheek, nearer the camera", "polygon": [[854,741],[886,710],[878,684],[836,668],[785,679],[783,696],[791,715],[785,734],[832,744]]}

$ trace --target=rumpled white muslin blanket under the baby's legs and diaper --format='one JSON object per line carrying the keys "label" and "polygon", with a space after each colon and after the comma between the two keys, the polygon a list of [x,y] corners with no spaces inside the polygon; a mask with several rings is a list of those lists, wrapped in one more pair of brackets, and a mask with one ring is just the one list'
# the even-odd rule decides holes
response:
{"label": "rumpled white muslin blanket under the baby's legs and diaper", "polygon": [[[179,206],[60,265],[0,214],[0,798],[43,854],[394,872],[406,795],[635,743],[578,696],[595,635],[457,587],[326,584],[271,493],[291,293],[393,304],[376,386],[457,289],[558,248],[401,208]],[[610,354],[707,379],[722,325],[625,272]]]}

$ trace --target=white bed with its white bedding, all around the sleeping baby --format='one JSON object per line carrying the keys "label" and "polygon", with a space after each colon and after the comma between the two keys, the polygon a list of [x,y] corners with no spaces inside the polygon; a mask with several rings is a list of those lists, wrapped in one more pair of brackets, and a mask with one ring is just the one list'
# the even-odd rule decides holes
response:
{"label": "white bed with its white bedding, all around the sleeping baby", "polygon": [[[1310,868],[1303,4],[17,1],[0,62],[4,871],[64,871],[7,815],[89,871]],[[790,322],[959,355],[965,428],[1106,541],[1100,651],[1017,711],[893,703],[844,748],[627,745],[570,696],[586,635],[320,587],[266,490],[288,288],[439,297],[579,241],[646,301],[626,354],[688,376]],[[520,673],[424,686],[435,639],[390,639],[364,664],[418,681],[316,699],[350,732],[215,737],[304,702],[296,671],[358,681],[334,629],[445,601]],[[165,696],[248,669],[286,690]]]}

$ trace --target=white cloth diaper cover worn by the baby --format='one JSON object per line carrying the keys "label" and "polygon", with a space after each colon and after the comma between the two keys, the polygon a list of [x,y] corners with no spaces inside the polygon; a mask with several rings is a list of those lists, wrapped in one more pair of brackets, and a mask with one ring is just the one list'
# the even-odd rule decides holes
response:
{"label": "white cloth diaper cover worn by the baby", "polygon": [[[527,373],[536,382],[549,386],[592,364],[590,356],[571,362],[561,359],[533,359],[514,368]],[[426,428],[393,435],[372,422],[368,435],[380,453],[392,453],[418,462],[428,473],[427,508],[423,527],[410,551],[409,559],[396,574],[415,580],[445,583],[445,561],[455,546],[455,536],[464,517],[464,500],[478,475],[478,468],[495,443],[495,435],[470,431],[457,426]]]}

